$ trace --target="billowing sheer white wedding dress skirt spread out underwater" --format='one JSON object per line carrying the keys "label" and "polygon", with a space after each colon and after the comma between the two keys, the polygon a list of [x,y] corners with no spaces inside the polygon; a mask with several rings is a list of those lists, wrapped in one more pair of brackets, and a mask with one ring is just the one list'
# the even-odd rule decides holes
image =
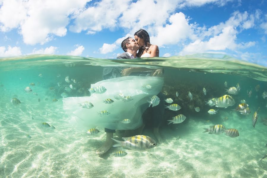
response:
{"label": "billowing sheer white wedding dress skirt spread out underwater", "polygon": [[[63,109],[72,118],[72,123],[78,122],[80,126],[90,129],[100,126],[108,129],[128,130],[136,129],[143,123],[143,111],[148,108],[149,97],[157,95],[163,86],[162,77],[137,77],[127,76],[103,80],[91,85],[91,88],[104,86],[105,93],[92,93],[91,96],[63,98]],[[148,89],[144,85],[151,85]],[[116,100],[114,96],[118,94],[131,96],[132,101],[124,102]],[[114,102],[105,104],[105,99],[112,99]],[[79,106],[79,103],[91,102],[94,107],[86,109]],[[107,110],[107,116],[100,116],[99,112]],[[78,117],[78,118],[77,118]],[[80,119],[79,119],[80,118]],[[131,120],[130,123],[122,123],[124,119]],[[77,122],[76,122],[77,121]]]}

